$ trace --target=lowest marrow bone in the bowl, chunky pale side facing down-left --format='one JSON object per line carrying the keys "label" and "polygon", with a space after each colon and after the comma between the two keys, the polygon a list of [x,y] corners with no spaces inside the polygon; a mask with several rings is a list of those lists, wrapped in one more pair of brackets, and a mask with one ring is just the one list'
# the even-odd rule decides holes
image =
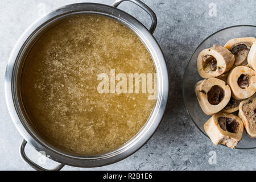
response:
{"label": "lowest marrow bone in the bowl, chunky pale side facing down-left", "polygon": [[236,115],[217,113],[205,122],[204,130],[213,144],[234,148],[242,138],[243,122]]}

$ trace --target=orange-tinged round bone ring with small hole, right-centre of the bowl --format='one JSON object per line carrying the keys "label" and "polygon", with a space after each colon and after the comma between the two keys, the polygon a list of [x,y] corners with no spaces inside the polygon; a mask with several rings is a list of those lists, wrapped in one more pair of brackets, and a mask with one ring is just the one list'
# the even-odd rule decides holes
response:
{"label": "orange-tinged round bone ring with small hole, right-centre of the bowl", "polygon": [[230,71],[227,82],[232,91],[232,97],[242,100],[253,96],[256,92],[256,72],[248,67],[240,66]]}

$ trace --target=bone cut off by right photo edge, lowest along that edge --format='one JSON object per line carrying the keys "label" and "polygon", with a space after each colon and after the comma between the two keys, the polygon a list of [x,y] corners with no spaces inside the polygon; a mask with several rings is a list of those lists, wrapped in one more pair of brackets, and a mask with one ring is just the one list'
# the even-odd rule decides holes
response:
{"label": "bone cut off by right photo edge, lowest along that edge", "polygon": [[256,138],[256,94],[240,103],[238,115],[245,125],[246,133]]}

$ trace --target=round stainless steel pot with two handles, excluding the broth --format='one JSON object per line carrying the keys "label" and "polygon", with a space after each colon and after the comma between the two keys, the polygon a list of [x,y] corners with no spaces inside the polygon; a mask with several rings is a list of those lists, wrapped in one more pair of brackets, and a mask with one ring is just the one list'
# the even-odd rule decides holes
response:
{"label": "round stainless steel pot with two handles, excluding the broth", "polygon": [[[123,1],[135,3],[135,5],[138,5],[150,15],[152,24],[149,31],[133,16],[117,9],[117,6]],[[55,146],[49,144],[31,125],[30,119],[26,115],[22,100],[20,98],[20,72],[22,70],[26,55],[30,51],[35,41],[59,20],[74,14],[85,13],[108,16],[118,20],[133,30],[150,52],[152,60],[155,64],[156,72],[158,73],[158,98],[146,124],[137,135],[135,135],[127,143],[123,144],[123,146],[119,147],[117,150],[100,156],[78,156],[68,154],[67,152],[61,151]],[[19,133],[22,134],[24,138],[20,146],[20,155],[26,163],[35,169],[46,170],[45,168],[32,162],[27,157],[24,152],[27,142],[30,143],[36,150],[46,152],[46,155],[49,156],[50,159],[59,162],[60,165],[52,169],[59,170],[63,168],[64,165],[75,167],[99,167],[118,162],[119,160],[133,154],[140,147],[142,147],[148,139],[150,139],[163,117],[168,97],[168,73],[166,62],[158,43],[152,36],[155,27],[156,16],[154,12],[144,3],[138,0],[117,0],[113,3],[113,6],[98,3],[77,3],[61,7],[60,9],[52,11],[51,13],[37,20],[26,30],[26,32],[24,32],[24,34],[18,40],[18,43],[16,43],[6,68],[5,96],[11,118],[13,119],[16,128],[19,130]]]}

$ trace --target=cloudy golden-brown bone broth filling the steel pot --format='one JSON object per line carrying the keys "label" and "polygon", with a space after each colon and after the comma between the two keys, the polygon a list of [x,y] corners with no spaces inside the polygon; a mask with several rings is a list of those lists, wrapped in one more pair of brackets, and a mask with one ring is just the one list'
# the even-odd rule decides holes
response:
{"label": "cloudy golden-brown bone broth filling the steel pot", "polygon": [[[135,78],[129,85],[129,73],[151,73],[154,90],[154,63],[133,31],[101,15],[71,16],[44,33],[28,53],[22,101],[32,125],[53,146],[102,154],[134,137],[155,105],[148,99],[152,92],[142,93],[143,76],[140,92],[129,92],[130,86],[138,88]],[[127,83],[120,86],[121,80]],[[99,91],[100,83],[105,92]]]}

